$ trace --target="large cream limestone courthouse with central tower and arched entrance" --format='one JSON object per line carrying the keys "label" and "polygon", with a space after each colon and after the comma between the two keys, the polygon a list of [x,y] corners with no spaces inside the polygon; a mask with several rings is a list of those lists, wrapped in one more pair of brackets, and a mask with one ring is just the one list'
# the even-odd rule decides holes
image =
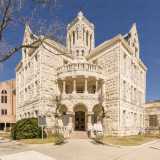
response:
{"label": "large cream limestone courthouse with central tower and arched entrance", "polygon": [[[37,37],[26,25],[23,44]],[[47,128],[105,135],[144,131],[147,68],[139,59],[136,24],[95,48],[94,25],[80,11],[67,25],[66,47],[45,39],[45,48],[23,48],[16,71],[16,120],[45,114]],[[51,52],[50,52],[51,51]]]}

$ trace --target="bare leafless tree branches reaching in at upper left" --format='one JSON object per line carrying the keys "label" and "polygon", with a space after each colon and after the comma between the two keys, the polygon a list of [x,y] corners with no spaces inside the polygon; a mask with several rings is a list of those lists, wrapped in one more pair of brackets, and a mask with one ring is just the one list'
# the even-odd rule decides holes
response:
{"label": "bare leafless tree branches reaching in at upper left", "polygon": [[[46,39],[52,39],[59,42],[57,44],[64,45],[65,26],[55,16],[55,12],[60,7],[58,0],[1,0],[0,63],[7,60],[21,48],[37,48],[39,45],[45,48],[43,42]],[[51,20],[40,17],[40,14],[46,14],[46,11],[48,11]],[[29,25],[34,33],[30,35],[33,39],[31,43],[12,46],[5,40],[4,33],[7,29],[16,31],[26,25]]]}

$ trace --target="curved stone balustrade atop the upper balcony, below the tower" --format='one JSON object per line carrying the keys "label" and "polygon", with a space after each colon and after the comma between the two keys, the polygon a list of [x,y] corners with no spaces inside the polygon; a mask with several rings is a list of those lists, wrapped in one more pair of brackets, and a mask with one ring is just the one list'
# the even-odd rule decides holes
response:
{"label": "curved stone balustrade atop the upper balcony, below the tower", "polygon": [[56,70],[58,78],[73,75],[72,72],[76,73],[76,75],[84,75],[84,71],[88,76],[99,76],[102,78],[104,75],[104,70],[101,66],[90,63],[70,63],[58,67]]}

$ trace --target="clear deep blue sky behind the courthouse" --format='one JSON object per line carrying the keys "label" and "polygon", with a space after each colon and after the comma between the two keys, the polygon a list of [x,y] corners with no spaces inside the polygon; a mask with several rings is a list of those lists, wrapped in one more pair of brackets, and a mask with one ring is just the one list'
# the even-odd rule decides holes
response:
{"label": "clear deep blue sky behind the courthouse", "polygon": [[[95,26],[95,46],[112,39],[118,34],[125,35],[133,23],[136,23],[140,59],[148,68],[146,78],[146,101],[160,99],[160,1],[159,0],[61,0],[61,9],[56,12],[66,25],[76,18],[82,6],[83,15]],[[43,12],[43,18],[49,16]],[[5,38],[16,46],[22,43],[24,28],[12,33],[9,30]],[[9,60],[3,62],[4,69],[0,73],[0,82],[15,78],[14,68],[21,60],[21,52],[17,52]]]}

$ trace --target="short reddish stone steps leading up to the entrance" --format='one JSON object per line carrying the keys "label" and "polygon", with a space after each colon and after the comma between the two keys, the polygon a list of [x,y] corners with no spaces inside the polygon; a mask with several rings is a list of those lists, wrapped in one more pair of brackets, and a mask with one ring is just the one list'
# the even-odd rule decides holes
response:
{"label": "short reddish stone steps leading up to the entrance", "polygon": [[70,139],[88,139],[88,135],[85,131],[73,131],[70,135]]}

